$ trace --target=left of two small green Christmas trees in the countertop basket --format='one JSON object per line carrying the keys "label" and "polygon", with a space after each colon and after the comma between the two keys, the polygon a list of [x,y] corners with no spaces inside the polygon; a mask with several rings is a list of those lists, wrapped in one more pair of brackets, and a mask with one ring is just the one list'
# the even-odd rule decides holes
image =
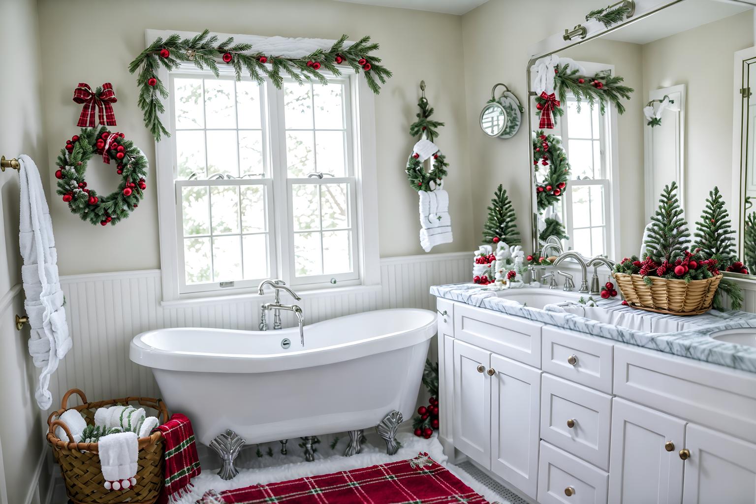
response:
{"label": "left of two small green Christmas trees in the countertop basket", "polygon": [[[644,244],[646,255],[656,264],[674,264],[685,257],[690,243],[688,223],[683,218],[683,209],[677,199],[677,183],[666,185],[659,198],[659,206],[651,216],[649,235]],[[661,274],[658,276],[662,276]]]}

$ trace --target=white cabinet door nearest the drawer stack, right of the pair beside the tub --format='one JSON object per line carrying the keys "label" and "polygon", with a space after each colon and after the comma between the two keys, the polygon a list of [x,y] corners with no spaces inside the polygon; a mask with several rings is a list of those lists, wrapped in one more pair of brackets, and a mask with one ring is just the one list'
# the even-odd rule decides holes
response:
{"label": "white cabinet door nearest the drawer stack, right of the pair beside the tub", "polygon": [[497,354],[491,368],[491,471],[535,499],[541,371]]}

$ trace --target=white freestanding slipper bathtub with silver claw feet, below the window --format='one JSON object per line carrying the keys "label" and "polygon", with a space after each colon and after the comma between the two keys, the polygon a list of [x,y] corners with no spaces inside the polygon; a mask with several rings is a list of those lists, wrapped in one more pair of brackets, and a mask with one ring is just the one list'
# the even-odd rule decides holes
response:
{"label": "white freestanding slipper bathtub with silver claw feet, below the window", "polygon": [[[369,428],[414,413],[435,313],[367,311],[299,329],[158,329],[129,357],[152,368],[172,412],[203,444],[226,429],[247,444]],[[283,339],[290,339],[288,349]]]}

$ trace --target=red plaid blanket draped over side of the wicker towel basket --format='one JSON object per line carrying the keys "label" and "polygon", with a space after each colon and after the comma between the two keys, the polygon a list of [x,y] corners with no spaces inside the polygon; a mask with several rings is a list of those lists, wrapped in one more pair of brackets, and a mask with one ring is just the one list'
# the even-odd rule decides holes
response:
{"label": "red plaid blanket draped over side of the wicker towel basket", "polygon": [[157,427],[166,438],[166,481],[161,502],[167,498],[177,500],[193,485],[191,478],[199,475],[200,458],[194,444],[191,422],[181,413],[174,413],[171,419]]}

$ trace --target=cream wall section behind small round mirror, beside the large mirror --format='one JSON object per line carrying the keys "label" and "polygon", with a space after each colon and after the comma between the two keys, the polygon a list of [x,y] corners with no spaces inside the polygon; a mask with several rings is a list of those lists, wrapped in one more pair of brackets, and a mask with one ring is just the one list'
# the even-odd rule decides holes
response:
{"label": "cream wall section behind small round mirror, beside the large mirror", "polygon": [[[504,82],[525,104],[528,47],[580,23],[596,8],[595,0],[489,0],[462,17],[467,104],[467,153],[472,176],[472,238],[482,240],[487,207],[496,184],[513,199],[517,225],[526,248],[531,240],[529,191],[531,162],[528,131],[523,127],[509,140],[488,138],[480,131],[480,111],[491,88]],[[553,13],[543,15],[541,13]],[[558,14],[557,14],[558,13]]]}

